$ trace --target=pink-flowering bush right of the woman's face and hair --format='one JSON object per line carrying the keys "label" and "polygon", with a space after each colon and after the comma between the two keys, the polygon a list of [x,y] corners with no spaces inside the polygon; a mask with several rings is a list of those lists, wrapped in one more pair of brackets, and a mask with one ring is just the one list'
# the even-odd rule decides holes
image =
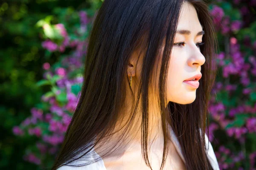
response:
{"label": "pink-flowering bush right of the woman's face and hair", "polygon": [[[210,4],[218,30],[218,76],[209,102],[209,140],[220,169],[255,170],[255,0]],[[216,94],[216,95],[215,95]]]}

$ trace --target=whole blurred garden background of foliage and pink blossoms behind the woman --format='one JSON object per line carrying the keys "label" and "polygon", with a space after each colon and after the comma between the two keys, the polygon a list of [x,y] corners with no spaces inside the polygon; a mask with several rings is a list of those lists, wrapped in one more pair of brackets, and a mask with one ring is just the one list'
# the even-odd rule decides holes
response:
{"label": "whole blurred garden background of foliage and pink blossoms behind the woman", "polygon": [[[0,169],[50,169],[103,0],[0,2]],[[256,170],[256,0],[208,2],[218,32],[209,140],[221,170]]]}

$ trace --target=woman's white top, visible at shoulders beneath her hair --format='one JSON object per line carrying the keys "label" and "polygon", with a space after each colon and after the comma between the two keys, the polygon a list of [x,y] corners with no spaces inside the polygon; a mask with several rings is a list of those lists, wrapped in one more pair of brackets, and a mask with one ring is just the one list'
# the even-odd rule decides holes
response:
{"label": "woman's white top, visible at shoulders beneath her hair", "polygon": [[[180,158],[185,163],[186,161],[183,157],[183,154],[181,153],[180,143],[178,142],[178,139],[177,139],[175,133],[173,132],[172,128],[171,128],[171,139],[172,139],[172,142],[173,142],[178,154],[180,155]],[[209,141],[208,136],[205,133],[206,149],[208,149],[208,141]],[[98,158],[98,157],[101,158],[93,149],[91,150],[91,152],[94,152],[95,156],[96,156],[96,157],[92,156],[92,158],[91,158],[92,160],[96,160],[96,158]],[[210,142],[209,142],[209,149],[206,150],[206,152],[207,152],[207,157],[209,159],[210,164],[212,165],[213,170],[220,170],[220,168],[218,166],[218,161],[216,159],[214,150],[212,148],[212,144]],[[79,162],[79,164],[85,163],[84,161],[78,161],[78,162]],[[97,161],[93,164],[89,164],[87,166],[70,167],[70,166],[65,165],[65,166],[59,167],[57,170],[106,170],[106,167],[105,167],[104,161],[101,159],[100,161]]]}

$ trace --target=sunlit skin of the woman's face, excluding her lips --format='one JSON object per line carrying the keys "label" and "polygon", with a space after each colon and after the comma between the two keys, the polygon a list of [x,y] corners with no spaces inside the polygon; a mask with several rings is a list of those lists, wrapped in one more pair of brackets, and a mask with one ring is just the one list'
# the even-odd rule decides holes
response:
{"label": "sunlit skin of the woman's face, excluding her lips", "polygon": [[183,81],[201,74],[201,65],[205,62],[198,45],[202,42],[203,35],[197,36],[203,29],[195,8],[190,4],[183,4],[177,32],[179,30],[188,30],[190,34],[188,31],[175,34],[176,45],[174,44],[172,48],[167,78],[167,99],[179,104],[189,104],[195,100],[197,88]]}

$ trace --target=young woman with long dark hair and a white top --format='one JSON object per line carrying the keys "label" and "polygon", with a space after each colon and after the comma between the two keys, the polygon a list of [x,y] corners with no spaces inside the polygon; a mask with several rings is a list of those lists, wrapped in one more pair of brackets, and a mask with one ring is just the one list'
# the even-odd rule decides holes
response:
{"label": "young woman with long dark hair and a white top", "polygon": [[105,0],[52,170],[219,170],[205,133],[217,47],[201,0]]}

